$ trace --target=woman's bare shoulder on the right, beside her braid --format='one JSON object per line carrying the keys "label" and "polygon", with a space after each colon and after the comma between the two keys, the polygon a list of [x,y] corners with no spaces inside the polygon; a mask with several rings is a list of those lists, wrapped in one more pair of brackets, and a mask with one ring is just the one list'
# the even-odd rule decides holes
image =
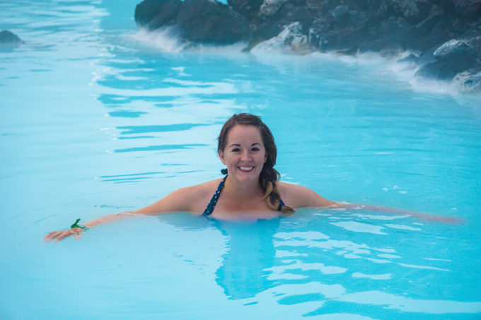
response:
{"label": "woman's bare shoulder on the right, beside her braid", "polygon": [[277,182],[277,189],[282,201],[292,208],[326,207],[334,204],[306,186]]}

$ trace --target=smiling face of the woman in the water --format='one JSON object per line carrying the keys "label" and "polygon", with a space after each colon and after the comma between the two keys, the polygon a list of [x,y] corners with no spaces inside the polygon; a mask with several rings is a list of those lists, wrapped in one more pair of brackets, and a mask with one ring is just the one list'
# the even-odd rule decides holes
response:
{"label": "smiling face of the woman in the water", "polygon": [[255,126],[236,124],[227,134],[224,150],[219,150],[222,163],[227,166],[229,177],[240,182],[259,179],[267,160],[260,129]]}

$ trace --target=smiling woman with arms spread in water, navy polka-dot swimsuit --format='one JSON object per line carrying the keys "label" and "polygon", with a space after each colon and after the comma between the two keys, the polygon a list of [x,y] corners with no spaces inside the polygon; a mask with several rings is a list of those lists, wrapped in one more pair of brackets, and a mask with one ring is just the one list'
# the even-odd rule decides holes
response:
{"label": "smiling woman with arms spread in water, navy polka-dot swimsuit", "polygon": [[[219,134],[217,151],[222,163],[227,166],[227,169],[222,170],[226,174],[224,178],[178,189],[137,211],[105,215],[83,226],[77,225],[77,220],[70,229],[52,231],[45,235],[45,242],[53,239],[59,242],[69,236],[79,239],[86,228],[139,214],[159,215],[187,211],[195,215],[233,220],[275,218],[289,215],[294,213],[295,208],[303,207],[347,206],[329,201],[305,186],[279,182],[279,172],[274,169],[277,158],[274,137],[260,117],[253,114],[234,114],[228,119]],[[372,206],[367,208],[435,219],[432,215],[422,213]]]}

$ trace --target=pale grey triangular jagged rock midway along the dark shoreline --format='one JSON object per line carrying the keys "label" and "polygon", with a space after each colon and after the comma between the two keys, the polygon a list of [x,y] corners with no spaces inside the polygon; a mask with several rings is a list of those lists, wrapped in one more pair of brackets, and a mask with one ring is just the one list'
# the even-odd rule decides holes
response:
{"label": "pale grey triangular jagged rock midway along the dark shoreline", "polygon": [[312,52],[306,35],[303,35],[301,23],[295,22],[287,25],[282,32],[270,40],[260,42],[253,47],[250,52],[293,52],[297,54],[305,54]]}

